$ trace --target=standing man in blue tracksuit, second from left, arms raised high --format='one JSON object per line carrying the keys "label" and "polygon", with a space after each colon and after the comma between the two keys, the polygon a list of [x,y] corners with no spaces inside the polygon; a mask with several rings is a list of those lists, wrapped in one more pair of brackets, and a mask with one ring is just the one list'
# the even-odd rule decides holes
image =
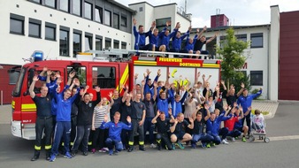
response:
{"label": "standing man in blue tracksuit, second from left, arms raised high", "polygon": [[[69,79],[67,80],[67,84],[65,86],[65,90],[61,92],[59,95],[55,95],[54,98],[57,102],[57,123],[55,126],[55,135],[53,147],[51,149],[50,162],[54,162],[56,156],[58,155],[58,146],[61,140],[61,137],[64,137],[64,145],[65,145],[65,157],[72,158],[69,153],[69,134],[71,134],[71,110],[72,104],[76,99],[76,96],[79,95],[80,88],[76,95],[72,95],[72,90],[69,89],[69,86],[73,80],[75,72],[69,74]],[[73,83],[76,86],[80,86],[80,81],[78,79],[73,80]]]}

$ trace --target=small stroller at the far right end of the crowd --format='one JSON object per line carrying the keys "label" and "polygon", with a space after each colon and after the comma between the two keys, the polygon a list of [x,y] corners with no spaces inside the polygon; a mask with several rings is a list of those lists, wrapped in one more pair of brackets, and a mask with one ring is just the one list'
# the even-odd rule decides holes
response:
{"label": "small stroller at the far right end of the crowd", "polygon": [[249,141],[255,141],[256,136],[258,136],[258,140],[264,140],[266,143],[270,141],[270,138],[266,136],[265,134],[265,118],[263,114],[260,114],[261,118],[263,118],[263,124],[258,125],[257,124],[257,118],[255,118],[255,115],[251,114],[251,133],[249,134]]}

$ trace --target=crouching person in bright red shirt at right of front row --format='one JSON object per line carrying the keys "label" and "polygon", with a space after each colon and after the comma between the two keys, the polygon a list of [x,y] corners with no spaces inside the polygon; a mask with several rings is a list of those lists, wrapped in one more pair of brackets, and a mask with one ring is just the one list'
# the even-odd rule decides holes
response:
{"label": "crouching person in bright red shirt at right of front row", "polygon": [[[226,107],[225,107],[226,108]],[[229,106],[230,109],[230,106]],[[234,115],[236,111],[239,111],[241,115]],[[246,111],[246,115],[249,113],[249,111]],[[234,129],[234,124],[244,118],[244,114],[242,111],[242,107],[238,107],[235,103],[235,106],[231,109],[231,114],[233,115],[233,118],[229,118],[228,120],[225,121],[224,126],[227,127],[228,129],[228,134],[227,136],[232,137],[232,141],[234,141],[234,138],[239,137],[242,132],[239,129]],[[242,141],[246,141],[245,136],[243,135]]]}

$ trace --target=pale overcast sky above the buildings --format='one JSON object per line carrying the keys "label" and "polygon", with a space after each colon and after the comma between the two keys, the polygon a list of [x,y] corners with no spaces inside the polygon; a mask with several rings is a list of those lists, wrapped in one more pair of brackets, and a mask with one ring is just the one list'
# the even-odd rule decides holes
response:
{"label": "pale overcast sky above the buildings", "polygon": [[[116,0],[128,6],[145,0]],[[154,6],[176,3],[185,8],[185,0],[149,0]],[[270,24],[270,6],[278,4],[280,12],[299,11],[299,0],[187,0],[187,12],[192,13],[192,27],[210,27],[210,17],[217,9],[225,14],[232,26]]]}

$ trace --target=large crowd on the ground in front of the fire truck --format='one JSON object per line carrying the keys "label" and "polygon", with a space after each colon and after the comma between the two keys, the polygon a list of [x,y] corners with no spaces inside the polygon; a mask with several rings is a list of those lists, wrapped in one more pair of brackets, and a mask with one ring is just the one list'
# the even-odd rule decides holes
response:
{"label": "large crowd on the ground in front of the fire truck", "polygon": [[[114,90],[105,97],[97,86],[82,88],[73,71],[60,92],[60,75],[44,67],[29,88],[37,108],[35,155],[31,160],[40,157],[43,130],[46,159],[50,162],[59,152],[66,158],[75,157],[79,151],[83,156],[96,151],[109,155],[121,150],[132,152],[137,138],[142,151],[146,150],[145,142],[149,148],[173,150],[228,144],[227,136],[232,141],[242,136],[241,141],[246,141],[251,132],[251,102],[262,93],[262,88],[249,95],[242,84],[236,94],[234,85],[226,90],[223,80],[216,88],[210,88],[211,75],[205,78],[203,74],[202,81],[197,73],[195,81],[184,81],[180,76],[170,82],[171,75],[165,81],[159,80],[161,70],[154,81],[150,80],[150,73],[146,70],[142,82],[134,83],[134,88],[124,86],[123,96]],[[134,79],[138,79],[138,74]],[[45,80],[39,96],[34,91],[38,80]],[[96,91],[95,98],[88,89]],[[258,133],[265,133],[263,119],[263,114],[256,110],[253,128]]]}

